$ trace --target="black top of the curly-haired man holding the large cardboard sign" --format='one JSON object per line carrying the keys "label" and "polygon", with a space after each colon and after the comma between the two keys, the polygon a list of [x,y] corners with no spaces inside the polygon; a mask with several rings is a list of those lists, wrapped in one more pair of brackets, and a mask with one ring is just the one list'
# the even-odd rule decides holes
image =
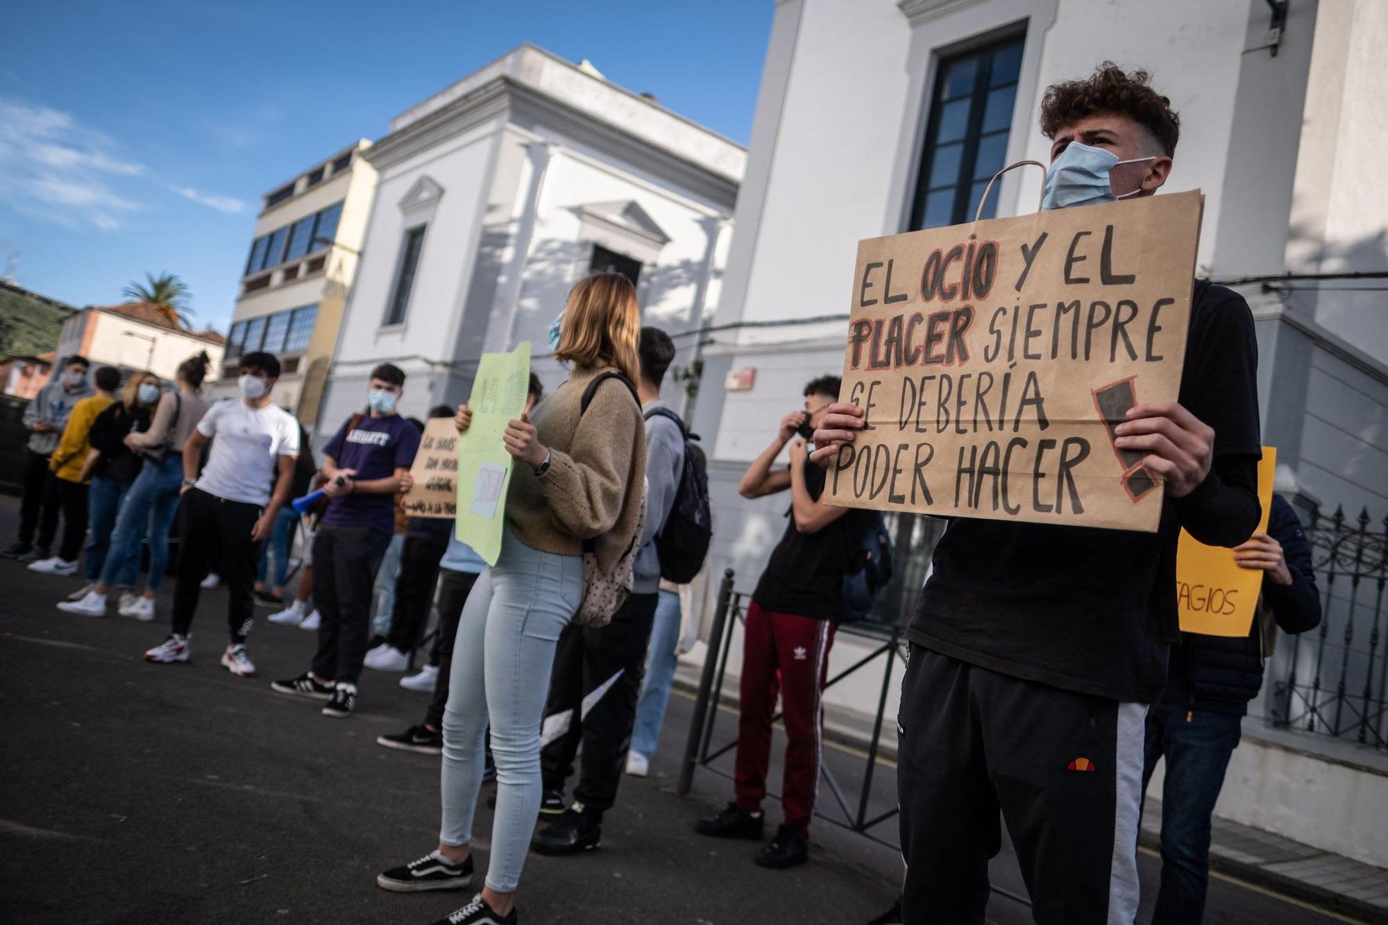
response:
{"label": "black top of the curly-haired man holding the large cardboard sign", "polygon": [[[1248,303],[1195,281],[1180,403],[1214,429],[1216,467],[1262,456],[1256,372]],[[1178,538],[1170,499],[1156,533],[955,518],[909,636],[990,671],[1152,703],[1166,683],[1163,624],[1176,625]]]}

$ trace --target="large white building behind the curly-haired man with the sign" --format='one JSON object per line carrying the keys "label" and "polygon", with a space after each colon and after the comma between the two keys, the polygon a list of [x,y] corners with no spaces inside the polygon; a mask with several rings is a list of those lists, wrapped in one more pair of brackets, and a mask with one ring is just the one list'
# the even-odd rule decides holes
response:
{"label": "large white building behind the curly-haired man with the sign", "polygon": [[[1166,189],[1205,192],[1201,275],[1256,278],[1237,288],[1256,318],[1278,489],[1303,507],[1344,504],[1353,515],[1367,506],[1381,524],[1388,324],[1384,293],[1360,289],[1388,285],[1385,43],[1380,0],[1294,0],[1281,24],[1262,0],[779,0],[693,419],[712,438],[716,571],[736,568],[737,588],[751,590],[784,529],[787,501],[744,501],[737,481],[799,406],[805,382],[843,368],[856,242],[965,221],[994,171],[1049,160],[1044,89],[1105,58],[1149,69],[1180,111]],[[1040,183],[1040,171],[1008,174],[985,214],[1034,210]],[[1380,279],[1338,276],[1353,272]],[[938,532],[936,521],[913,521],[895,524],[901,579],[880,601],[886,619],[909,618]],[[1352,610],[1328,612],[1323,686],[1332,688]],[[1349,689],[1367,674],[1381,697],[1384,618],[1360,607],[1356,619]],[[830,674],[866,651],[840,640]],[[1316,647],[1309,640],[1301,661]],[[1267,676],[1271,688],[1287,664]],[[854,679],[826,700],[870,715],[879,683]],[[1219,811],[1388,865],[1382,753],[1271,729],[1270,704],[1252,707]],[[1382,731],[1382,717],[1376,722]]]}

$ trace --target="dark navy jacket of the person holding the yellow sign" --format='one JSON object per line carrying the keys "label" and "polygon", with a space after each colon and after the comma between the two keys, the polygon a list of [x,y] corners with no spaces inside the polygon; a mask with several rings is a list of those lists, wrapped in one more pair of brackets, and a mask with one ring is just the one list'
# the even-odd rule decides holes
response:
{"label": "dark navy jacket of the person holding the yellow sign", "polygon": [[[1302,633],[1320,625],[1310,543],[1291,504],[1273,494],[1271,507],[1267,535],[1281,543],[1292,583],[1284,588],[1264,578],[1262,603],[1283,632]],[[1181,633],[1181,643],[1171,647],[1162,703],[1242,717],[1263,686],[1263,654],[1262,621],[1256,618],[1242,639]]]}

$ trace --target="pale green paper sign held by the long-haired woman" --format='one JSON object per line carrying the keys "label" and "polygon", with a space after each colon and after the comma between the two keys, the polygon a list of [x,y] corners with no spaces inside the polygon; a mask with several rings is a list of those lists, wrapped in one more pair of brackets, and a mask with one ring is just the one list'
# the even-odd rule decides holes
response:
{"label": "pale green paper sign held by the long-haired woman", "polygon": [[525,412],[530,383],[530,342],[511,353],[484,353],[472,382],[472,424],[458,435],[458,539],[489,565],[501,551],[511,454],[501,443],[507,421]]}

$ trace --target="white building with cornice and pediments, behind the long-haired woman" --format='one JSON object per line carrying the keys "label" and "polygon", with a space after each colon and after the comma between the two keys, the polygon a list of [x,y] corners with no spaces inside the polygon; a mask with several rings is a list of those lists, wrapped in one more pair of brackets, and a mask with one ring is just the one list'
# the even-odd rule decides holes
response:
{"label": "white building with cornice and pediments, behind the long-haired woman", "polygon": [[522,340],[554,388],[550,322],[590,272],[632,276],[644,321],[672,333],[718,301],[745,151],[591,64],[520,46],[394,118],[366,158],[379,182],[321,435],[387,360],[421,418]]}

